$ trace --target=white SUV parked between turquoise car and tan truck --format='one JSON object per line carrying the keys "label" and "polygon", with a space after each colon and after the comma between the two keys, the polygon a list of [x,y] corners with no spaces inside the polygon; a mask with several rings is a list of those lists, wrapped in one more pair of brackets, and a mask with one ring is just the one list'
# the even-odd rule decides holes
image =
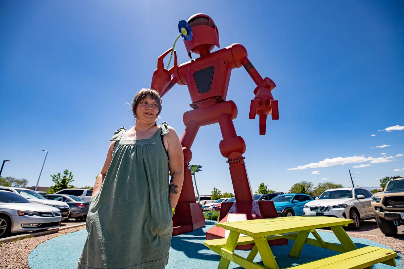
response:
{"label": "white SUV parked between turquoise car and tan truck", "polygon": [[352,219],[350,226],[357,230],[361,221],[375,218],[371,202],[372,193],[364,188],[328,189],[317,200],[305,204],[303,212],[305,215]]}

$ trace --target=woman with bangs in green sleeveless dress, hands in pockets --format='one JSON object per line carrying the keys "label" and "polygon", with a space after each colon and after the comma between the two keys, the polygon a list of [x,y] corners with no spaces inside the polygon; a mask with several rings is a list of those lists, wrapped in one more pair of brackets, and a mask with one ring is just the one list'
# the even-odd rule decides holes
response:
{"label": "woman with bangs in green sleeveless dress, hands in pockets", "polygon": [[182,146],[172,127],[156,123],[161,112],[158,92],[140,90],[132,111],[136,125],[115,132],[95,181],[88,237],[76,269],[167,265],[172,216],[184,179]]}

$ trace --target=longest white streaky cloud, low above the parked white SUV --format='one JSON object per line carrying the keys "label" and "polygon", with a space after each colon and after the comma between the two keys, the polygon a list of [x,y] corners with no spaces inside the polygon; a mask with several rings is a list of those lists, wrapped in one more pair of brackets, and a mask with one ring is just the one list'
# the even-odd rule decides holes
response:
{"label": "longest white streaky cloud, low above the parked white SUV", "polygon": [[383,162],[391,162],[391,159],[395,159],[393,156],[386,157],[364,157],[364,156],[352,156],[352,157],[337,157],[332,159],[324,159],[320,162],[312,162],[306,165],[300,165],[295,168],[289,168],[287,170],[304,170],[307,168],[320,168],[320,167],[330,167],[335,165],[344,165],[344,164],[358,164],[361,162],[370,162],[372,164],[380,164]]}

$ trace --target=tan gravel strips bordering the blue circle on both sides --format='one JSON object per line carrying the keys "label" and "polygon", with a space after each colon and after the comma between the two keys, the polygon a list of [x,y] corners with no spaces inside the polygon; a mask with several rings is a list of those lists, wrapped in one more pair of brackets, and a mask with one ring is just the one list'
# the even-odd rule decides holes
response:
{"label": "tan gravel strips bordering the blue circle on both sides", "polygon": [[[36,246],[53,237],[80,231],[82,229],[85,229],[85,226],[65,229],[49,235],[42,235],[34,238],[25,238],[16,242],[2,243],[0,244],[0,269],[29,269],[27,265],[28,255],[29,252],[31,252]],[[393,248],[399,253],[404,254],[404,240],[399,238],[356,233],[349,233],[349,236],[361,237],[376,241],[385,246]],[[403,258],[402,261],[404,262]]]}

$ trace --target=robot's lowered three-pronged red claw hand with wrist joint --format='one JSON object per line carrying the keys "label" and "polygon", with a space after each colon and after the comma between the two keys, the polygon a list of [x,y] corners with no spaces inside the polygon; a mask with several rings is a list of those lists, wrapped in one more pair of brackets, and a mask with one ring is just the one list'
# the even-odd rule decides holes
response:
{"label": "robot's lowered three-pronged red claw hand with wrist joint", "polygon": [[267,116],[269,114],[271,114],[272,120],[279,120],[278,100],[274,100],[271,93],[275,86],[271,79],[264,78],[254,90],[255,97],[251,100],[249,118],[255,119],[255,115],[259,116],[260,135],[265,135]]}

